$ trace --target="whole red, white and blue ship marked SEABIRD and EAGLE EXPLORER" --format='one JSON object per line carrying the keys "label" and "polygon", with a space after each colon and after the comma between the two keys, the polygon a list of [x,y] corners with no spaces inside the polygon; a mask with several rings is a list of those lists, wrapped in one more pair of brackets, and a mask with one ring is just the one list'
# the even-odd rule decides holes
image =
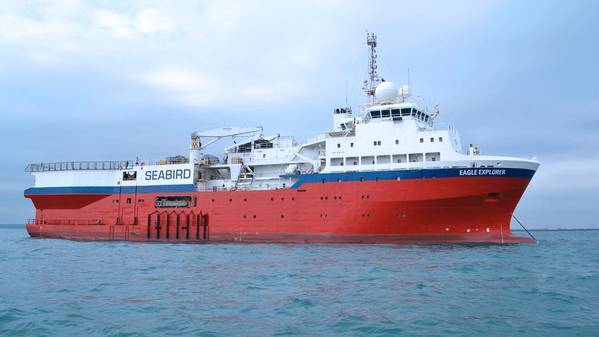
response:
{"label": "whole red, white and blue ship marked SEABIRD and EAGLE EXPLORER", "polygon": [[[336,108],[305,143],[262,128],[191,135],[158,162],[30,164],[32,237],[159,242],[485,242],[514,236],[512,213],[539,164],[462,149],[438,111],[379,78],[369,35],[369,103]],[[234,137],[224,156],[204,154]]]}

